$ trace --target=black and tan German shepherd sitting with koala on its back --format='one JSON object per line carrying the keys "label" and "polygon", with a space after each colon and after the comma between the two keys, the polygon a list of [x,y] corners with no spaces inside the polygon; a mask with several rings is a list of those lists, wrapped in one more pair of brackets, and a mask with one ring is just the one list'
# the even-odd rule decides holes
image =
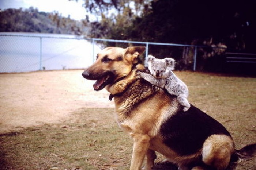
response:
{"label": "black and tan German shepherd sitting with koala on its back", "polygon": [[147,72],[139,57],[145,47],[107,47],[82,76],[97,80],[94,90],[106,88],[114,98],[117,122],[133,139],[130,170],[154,166],[155,151],[180,170],[234,169],[241,159],[255,157],[256,144],[235,150],[230,133],[218,121],[191,105],[184,112],[164,89],[140,78]]}

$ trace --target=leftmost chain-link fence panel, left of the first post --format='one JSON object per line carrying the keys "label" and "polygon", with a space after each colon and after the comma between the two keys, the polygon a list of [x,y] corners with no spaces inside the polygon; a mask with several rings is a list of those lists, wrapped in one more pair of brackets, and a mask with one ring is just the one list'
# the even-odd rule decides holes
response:
{"label": "leftmost chain-link fence panel, left of the first post", "polygon": [[0,36],[0,42],[0,72],[26,72],[39,69],[39,38]]}

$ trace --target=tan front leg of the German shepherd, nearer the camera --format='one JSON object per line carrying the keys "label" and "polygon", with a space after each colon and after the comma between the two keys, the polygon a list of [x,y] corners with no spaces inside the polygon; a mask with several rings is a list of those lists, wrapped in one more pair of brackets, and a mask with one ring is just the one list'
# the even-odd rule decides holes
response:
{"label": "tan front leg of the German shepherd, nearer the camera", "polygon": [[144,134],[131,133],[133,138],[133,151],[130,170],[140,170],[149,147],[150,137]]}

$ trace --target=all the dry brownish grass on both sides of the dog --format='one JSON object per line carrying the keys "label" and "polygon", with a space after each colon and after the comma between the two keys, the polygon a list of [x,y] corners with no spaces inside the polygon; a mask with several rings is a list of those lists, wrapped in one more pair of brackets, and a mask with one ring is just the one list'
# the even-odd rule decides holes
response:
{"label": "all the dry brownish grass on both sides of the dog", "polygon": [[[236,148],[256,142],[256,78],[176,72],[189,101],[221,122]],[[0,169],[129,169],[132,140],[114,109],[79,108],[69,120],[0,134]],[[158,154],[156,162],[164,159]],[[255,159],[238,169],[255,169]]]}

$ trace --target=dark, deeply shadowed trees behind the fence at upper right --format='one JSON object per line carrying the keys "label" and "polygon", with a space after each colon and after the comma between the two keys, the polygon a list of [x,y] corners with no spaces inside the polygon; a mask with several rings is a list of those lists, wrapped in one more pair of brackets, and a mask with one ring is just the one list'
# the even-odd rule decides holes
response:
{"label": "dark, deeply shadowed trees behind the fence at upper right", "polygon": [[[197,53],[202,66],[212,55],[218,55],[211,46],[227,46],[230,51],[255,53],[255,4],[253,0],[152,1],[150,12],[133,21],[127,29],[127,37],[130,40],[208,46],[200,48]],[[185,49],[166,46],[150,48],[150,53],[160,58],[173,57],[179,66],[185,68],[181,52]],[[193,53],[187,54],[192,59]],[[191,63],[187,67],[192,66],[192,61],[187,63]]]}

